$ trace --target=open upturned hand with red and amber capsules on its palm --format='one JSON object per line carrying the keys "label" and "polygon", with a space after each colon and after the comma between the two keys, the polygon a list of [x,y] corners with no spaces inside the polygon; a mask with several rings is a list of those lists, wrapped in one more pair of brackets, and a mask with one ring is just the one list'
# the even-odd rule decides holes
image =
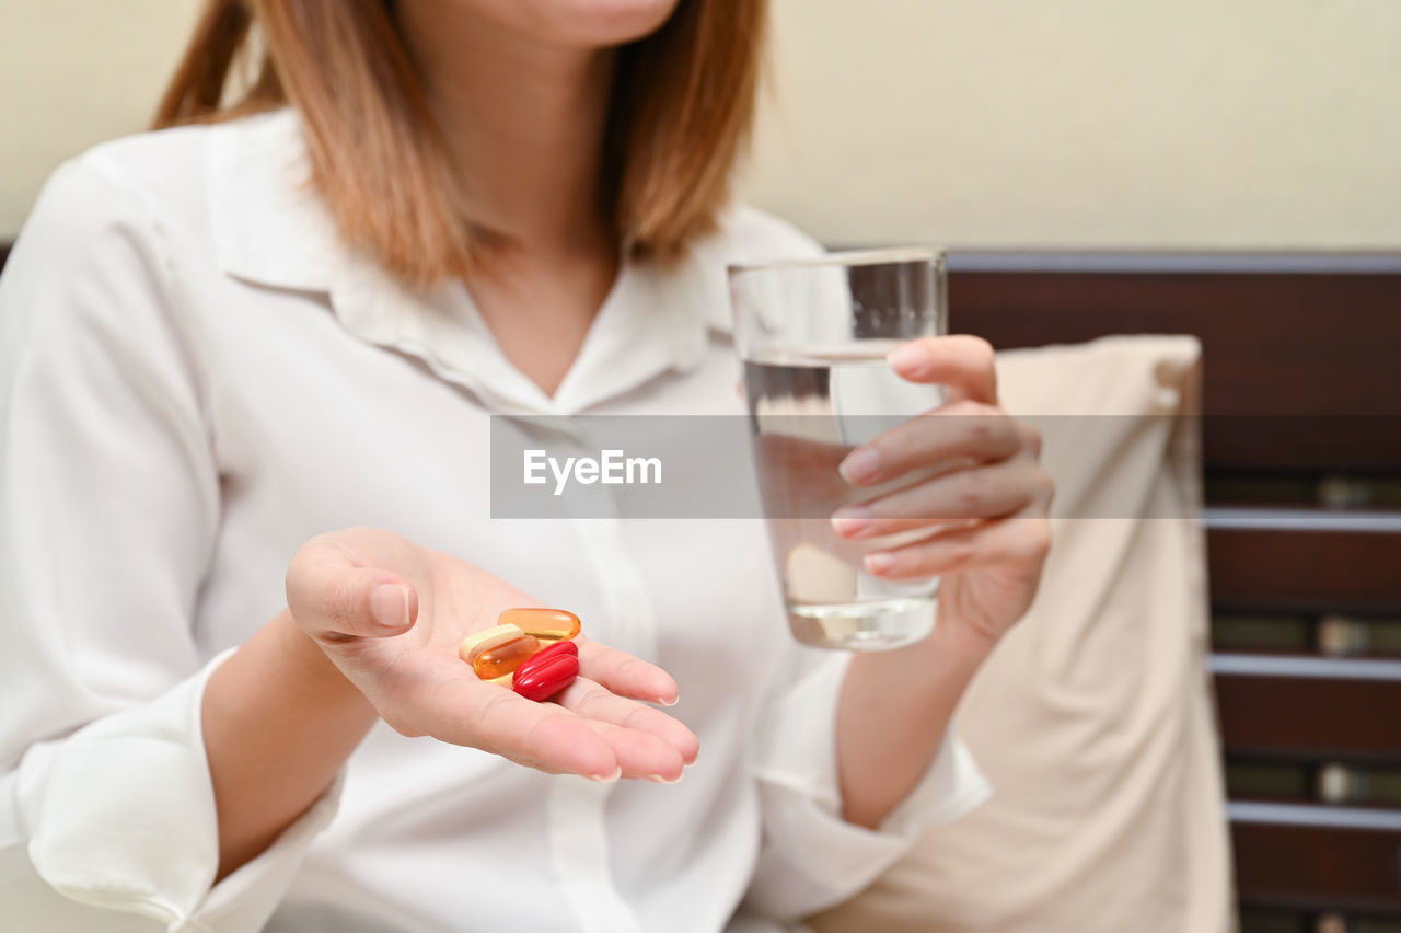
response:
{"label": "open upturned hand with red and amber capsules on its palm", "polygon": [[478,679],[458,658],[464,637],[532,605],[541,604],[481,567],[378,528],[312,538],[287,569],[297,628],[396,731],[551,773],[679,779],[698,740],[644,703],[677,699],[661,668],[579,636],[579,679],[537,703]]}

